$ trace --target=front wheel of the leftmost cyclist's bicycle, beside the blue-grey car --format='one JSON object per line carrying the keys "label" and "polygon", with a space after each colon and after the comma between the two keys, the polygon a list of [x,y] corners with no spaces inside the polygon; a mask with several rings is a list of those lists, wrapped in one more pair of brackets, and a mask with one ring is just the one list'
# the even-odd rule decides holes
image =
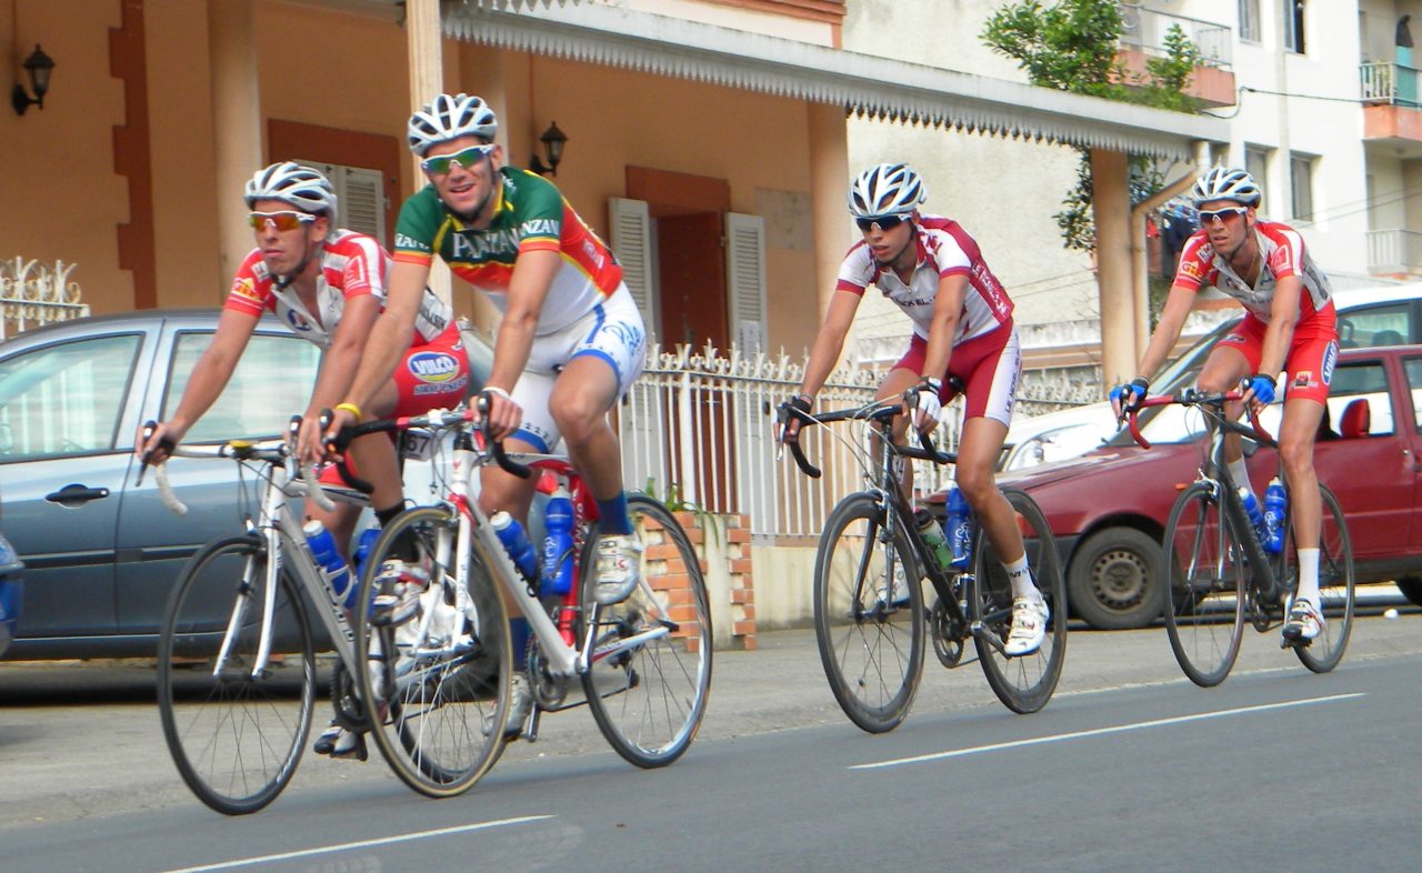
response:
{"label": "front wheel of the leftmost cyclist's bicycle, beside the blue-grey car", "polygon": [[188,788],[226,815],[274,800],[296,773],[311,729],[316,654],[306,604],[286,572],[274,593],[272,657],[253,675],[266,572],[267,553],[255,536],[208,543],[178,576],[158,638],[158,712],[168,751]]}

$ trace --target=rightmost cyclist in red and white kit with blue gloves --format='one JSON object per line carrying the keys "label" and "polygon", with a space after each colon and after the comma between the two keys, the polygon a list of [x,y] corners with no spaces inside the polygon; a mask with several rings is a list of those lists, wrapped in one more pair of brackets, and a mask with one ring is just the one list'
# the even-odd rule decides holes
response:
{"label": "rightmost cyclist in red and white kit with blue gloves", "polygon": [[[1307,644],[1324,624],[1318,610],[1322,502],[1314,471],[1314,436],[1338,361],[1338,327],[1328,277],[1314,264],[1297,230],[1257,216],[1261,196],[1253,176],[1241,169],[1217,166],[1194,183],[1190,198],[1199,209],[1200,230],[1180,253],[1140,373],[1155,373],[1165,363],[1196,296],[1209,286],[1239,300],[1247,314],[1210,351],[1200,371],[1200,390],[1226,391],[1239,385],[1247,402],[1268,404],[1276,395],[1276,375],[1287,370],[1278,454],[1294,503],[1298,593],[1283,634],[1285,641]],[[1149,381],[1140,375],[1113,388],[1111,401],[1118,414],[1145,397],[1148,388]],[[1231,434],[1226,442],[1226,459],[1233,479],[1253,493],[1237,435]]]}

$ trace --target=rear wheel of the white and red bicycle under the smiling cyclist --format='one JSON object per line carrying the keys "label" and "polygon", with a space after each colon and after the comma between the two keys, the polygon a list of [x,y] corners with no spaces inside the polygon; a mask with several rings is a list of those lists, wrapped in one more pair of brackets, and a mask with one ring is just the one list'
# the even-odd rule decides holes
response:
{"label": "rear wheel of the white and red bicycle under the smiling cyclist", "polygon": [[[627,600],[593,606],[596,535],[583,552],[579,638],[586,638],[589,617],[596,621],[583,691],[619,755],[637,766],[665,766],[687,751],[705,715],[711,609],[701,560],[671,512],[646,495],[629,495],[627,513],[646,547],[641,582]],[[629,637],[660,630],[670,633],[613,651]]]}

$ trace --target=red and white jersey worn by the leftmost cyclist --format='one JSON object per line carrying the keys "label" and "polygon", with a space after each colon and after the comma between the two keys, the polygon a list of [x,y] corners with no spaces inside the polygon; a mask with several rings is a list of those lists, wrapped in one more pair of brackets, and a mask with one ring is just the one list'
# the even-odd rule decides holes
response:
{"label": "red and white jersey worn by the leftmost cyclist", "polygon": [[[262,250],[253,249],[232,280],[225,309],[260,316],[272,310],[296,336],[321,348],[331,344],[336,326],[346,311],[347,297],[373,294],[385,309],[385,279],[390,276],[390,255],[373,236],[354,230],[336,230],[323,243],[321,272],[316,280],[316,313],[311,313],[292,289],[277,289],[276,279],[262,260]],[[424,346],[449,327],[454,311],[429,289],[415,317],[411,346]]]}

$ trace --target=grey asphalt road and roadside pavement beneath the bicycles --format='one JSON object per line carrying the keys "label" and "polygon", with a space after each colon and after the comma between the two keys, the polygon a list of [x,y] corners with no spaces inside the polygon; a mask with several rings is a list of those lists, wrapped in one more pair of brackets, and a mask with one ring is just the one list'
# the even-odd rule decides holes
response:
{"label": "grey asphalt road and roadside pavement beneath the bicycles", "polygon": [[670,769],[624,764],[574,711],[462,798],[309,755],[242,819],[182,786],[151,670],[0,667],[0,869],[1411,870],[1419,631],[1415,609],[1361,618],[1328,675],[1250,631],[1209,691],[1162,630],[1074,633],[1042,712],[1007,712],[975,665],[930,664],[882,737],[839,712],[811,634],[762,634],[717,654],[702,734]]}

